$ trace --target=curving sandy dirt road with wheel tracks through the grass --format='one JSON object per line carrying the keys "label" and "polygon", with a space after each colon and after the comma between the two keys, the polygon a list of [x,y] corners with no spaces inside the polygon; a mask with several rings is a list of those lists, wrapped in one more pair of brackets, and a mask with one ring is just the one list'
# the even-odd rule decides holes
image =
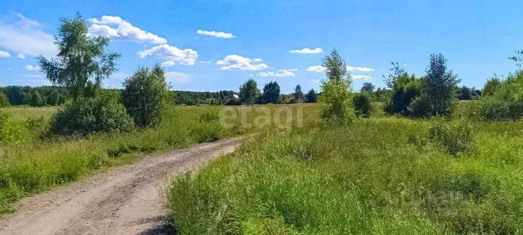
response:
{"label": "curving sandy dirt road with wheel tracks through the grass", "polygon": [[165,234],[162,186],[234,151],[238,138],[145,157],[58,189],[26,197],[0,219],[0,234]]}

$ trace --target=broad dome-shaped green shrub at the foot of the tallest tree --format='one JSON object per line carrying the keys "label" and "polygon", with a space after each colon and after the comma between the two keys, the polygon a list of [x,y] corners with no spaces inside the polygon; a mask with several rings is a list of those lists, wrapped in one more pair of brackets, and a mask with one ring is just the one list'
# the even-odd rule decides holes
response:
{"label": "broad dome-shaped green shrub at the foot of the tallest tree", "polygon": [[51,133],[59,135],[129,132],[133,127],[132,117],[110,96],[66,102],[51,121]]}

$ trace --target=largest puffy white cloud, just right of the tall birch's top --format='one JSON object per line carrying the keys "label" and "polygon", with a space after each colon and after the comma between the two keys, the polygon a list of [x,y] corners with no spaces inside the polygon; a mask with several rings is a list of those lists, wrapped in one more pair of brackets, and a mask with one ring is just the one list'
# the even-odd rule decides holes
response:
{"label": "largest puffy white cloud, just right of the tall birch's top", "polygon": [[133,26],[118,16],[102,16],[99,20],[89,19],[89,36],[105,35],[117,41],[165,44],[167,39]]}

